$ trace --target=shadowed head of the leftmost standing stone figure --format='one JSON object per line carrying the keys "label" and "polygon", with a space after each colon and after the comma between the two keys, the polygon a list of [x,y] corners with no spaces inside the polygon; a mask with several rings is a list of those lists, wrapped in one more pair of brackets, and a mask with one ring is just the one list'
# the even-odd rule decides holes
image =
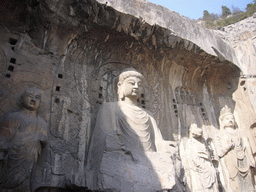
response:
{"label": "shadowed head of the leftmost standing stone figure", "polygon": [[22,106],[30,111],[36,111],[41,103],[41,91],[27,88],[21,95]]}

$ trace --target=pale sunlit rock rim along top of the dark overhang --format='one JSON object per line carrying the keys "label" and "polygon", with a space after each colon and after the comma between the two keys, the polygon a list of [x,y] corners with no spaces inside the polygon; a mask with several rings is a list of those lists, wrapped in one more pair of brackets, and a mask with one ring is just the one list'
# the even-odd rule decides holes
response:
{"label": "pale sunlit rock rim along top of the dark overhang", "polygon": [[[187,17],[184,17],[163,6],[153,4],[147,0],[97,0],[102,4],[114,7],[116,10],[134,15],[150,25],[159,25],[169,29],[173,34],[187,39],[209,54],[227,59],[240,65],[232,47],[221,38]],[[224,56],[224,58],[223,58]]]}

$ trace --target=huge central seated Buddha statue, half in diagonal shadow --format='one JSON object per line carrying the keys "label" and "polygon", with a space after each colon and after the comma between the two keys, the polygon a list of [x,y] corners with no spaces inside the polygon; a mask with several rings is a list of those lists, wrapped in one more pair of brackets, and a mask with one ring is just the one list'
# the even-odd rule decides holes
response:
{"label": "huge central seated Buddha statue, half in diagonal shadow", "polygon": [[119,75],[119,101],[105,103],[98,113],[87,164],[89,189],[179,188],[171,158],[175,143],[163,140],[150,112],[137,106],[142,82],[135,69],[124,70]]}

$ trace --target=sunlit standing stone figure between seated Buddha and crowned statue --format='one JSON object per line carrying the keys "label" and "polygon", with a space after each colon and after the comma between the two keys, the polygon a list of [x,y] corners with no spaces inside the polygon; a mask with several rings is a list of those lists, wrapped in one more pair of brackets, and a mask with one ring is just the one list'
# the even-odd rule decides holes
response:
{"label": "sunlit standing stone figure between seated Buddha and crowned statue", "polygon": [[218,191],[216,170],[210,151],[202,137],[202,129],[196,124],[190,126],[190,138],[186,146],[193,192]]}

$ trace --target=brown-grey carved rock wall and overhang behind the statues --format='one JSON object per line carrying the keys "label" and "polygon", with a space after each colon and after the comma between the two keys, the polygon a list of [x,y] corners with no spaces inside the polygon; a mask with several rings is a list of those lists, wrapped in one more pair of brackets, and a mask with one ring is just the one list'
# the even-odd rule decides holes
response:
{"label": "brown-grey carved rock wall and overhang behind the statues", "polygon": [[0,18],[1,120],[20,109],[25,88],[43,91],[39,115],[49,144],[33,190],[86,187],[96,115],[102,104],[116,101],[117,76],[127,67],[145,76],[140,106],[152,112],[164,139],[180,143],[183,157],[190,124],[213,139],[224,105],[242,129],[255,123],[242,61],[229,44],[147,1],[98,2],[11,0],[0,6],[8,15]]}

